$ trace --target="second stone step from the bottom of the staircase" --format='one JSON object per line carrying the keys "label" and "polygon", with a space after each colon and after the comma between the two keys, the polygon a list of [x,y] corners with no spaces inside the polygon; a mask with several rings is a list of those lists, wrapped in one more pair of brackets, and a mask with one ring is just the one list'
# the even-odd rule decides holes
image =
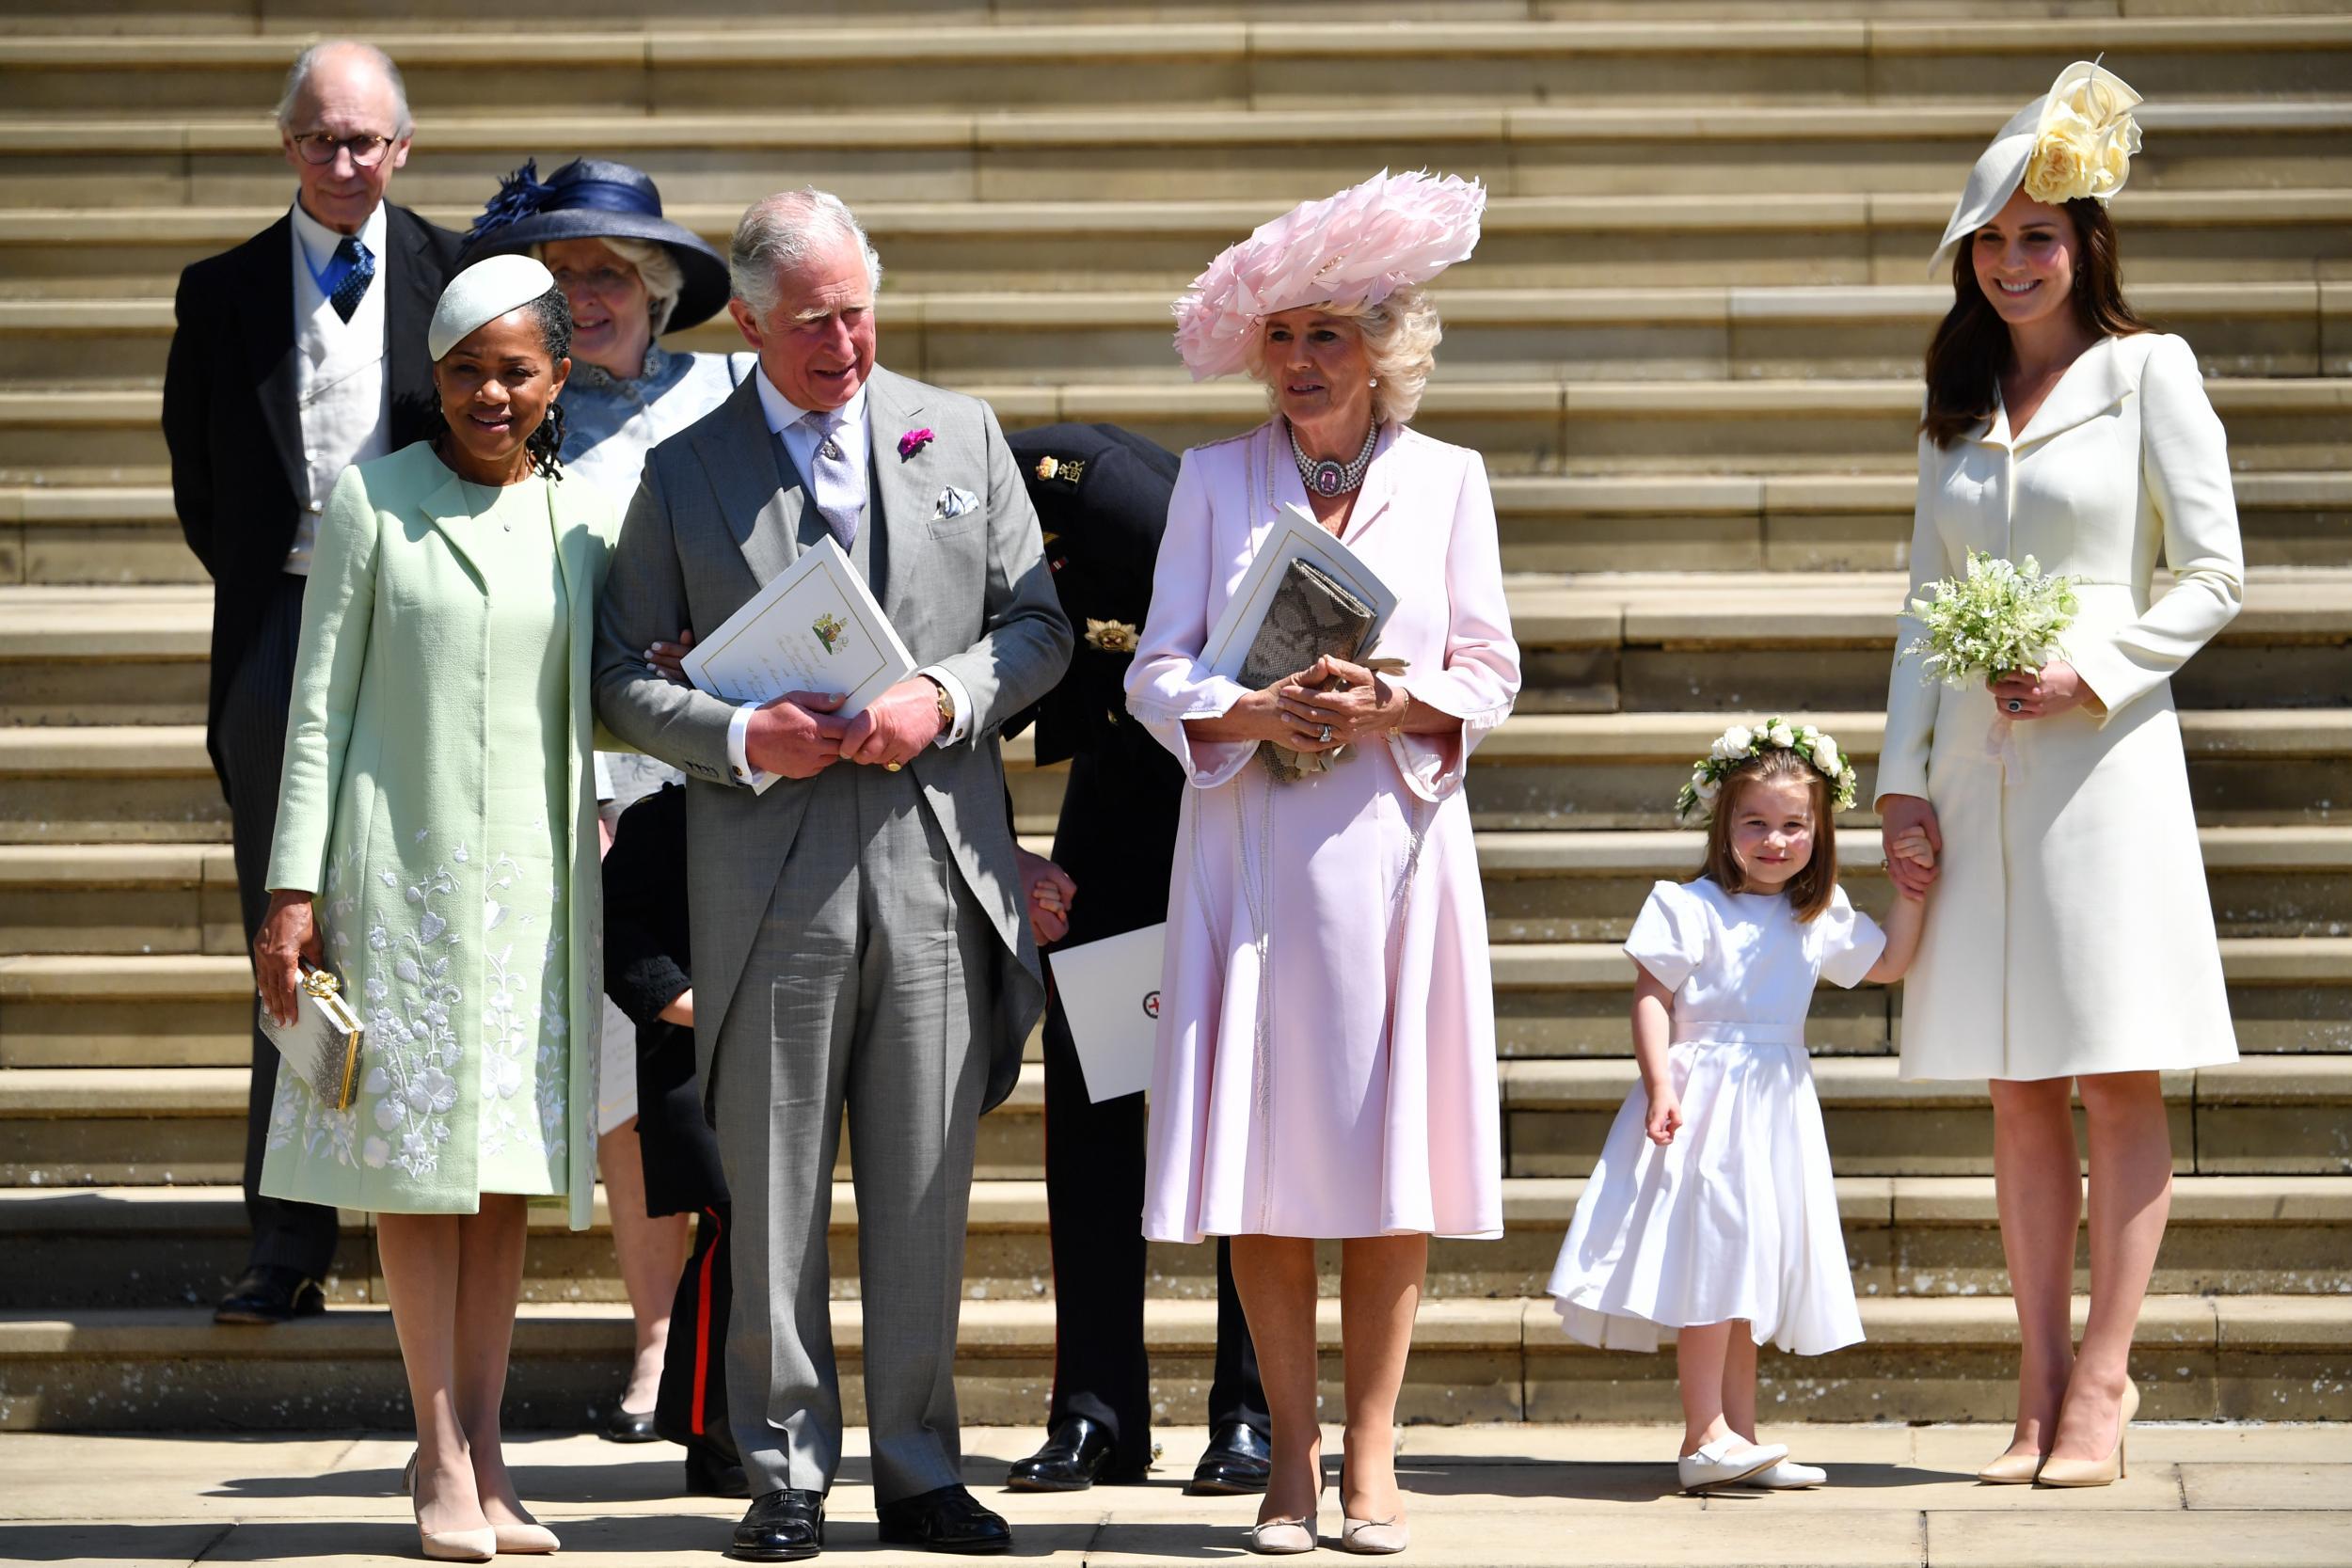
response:
{"label": "second stone step from the bottom of the staircase", "polygon": [[[1585,1178],[1503,1182],[1503,1239],[1430,1244],[1430,1300],[1543,1295],[1559,1239]],[[1837,1180],[1853,1291],[1860,1298],[2004,1295],[2009,1274],[1985,1175],[1844,1175]],[[833,1295],[858,1295],[856,1190],[833,1190]],[[247,1255],[238,1187],[0,1187],[0,1246],[33,1260],[0,1276],[0,1312],[66,1312],[219,1300]],[[2340,1175],[2183,1175],[2157,1255],[2159,1295],[2352,1293],[2352,1180]],[[1338,1288],[1338,1246],[1322,1269]],[[1150,1293],[1207,1300],[1216,1291],[1209,1248],[1150,1248]],[[2089,1281],[2089,1253],[2077,1284]],[[336,1305],[383,1302],[374,1225],[346,1211],[327,1295]],[[964,1237],[964,1300],[1051,1298],[1047,1197],[1037,1180],[983,1180],[971,1190]],[[534,1302],[626,1300],[602,1194],[595,1227],[569,1232],[536,1211],[522,1298]]]}

